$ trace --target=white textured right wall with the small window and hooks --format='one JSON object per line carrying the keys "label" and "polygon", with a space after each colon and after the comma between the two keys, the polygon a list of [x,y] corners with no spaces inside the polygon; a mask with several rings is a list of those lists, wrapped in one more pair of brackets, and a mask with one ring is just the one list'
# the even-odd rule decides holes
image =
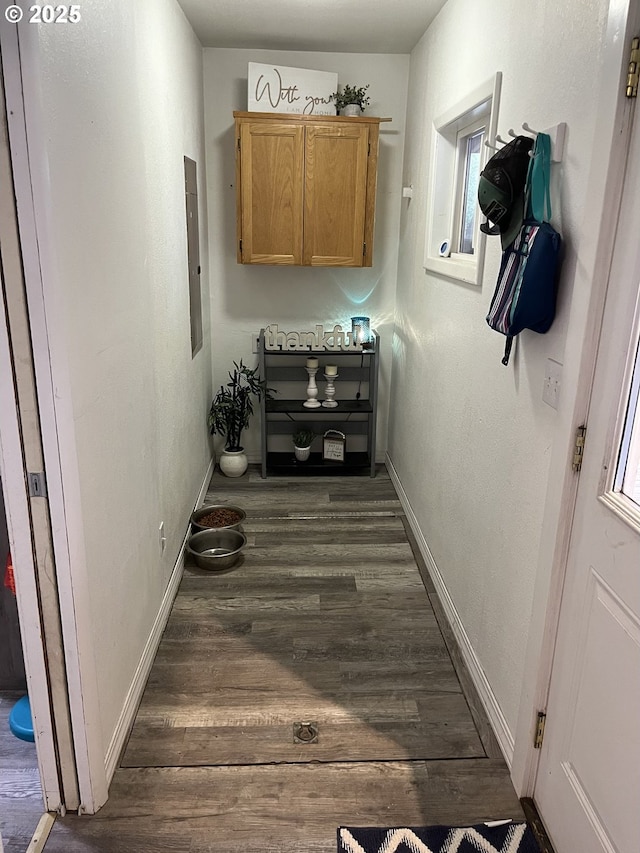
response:
{"label": "white textured right wall with the small window and hooks", "polygon": [[[411,55],[403,183],[414,194],[401,222],[390,456],[511,739],[556,437],[544,370],[564,357],[606,7],[449,0]],[[502,136],[523,122],[568,124],[554,166],[553,222],[566,249],[558,316],[547,335],[520,336],[508,368],[504,338],[485,323],[498,239],[488,240],[481,288],[422,267],[433,119],[496,71]]]}

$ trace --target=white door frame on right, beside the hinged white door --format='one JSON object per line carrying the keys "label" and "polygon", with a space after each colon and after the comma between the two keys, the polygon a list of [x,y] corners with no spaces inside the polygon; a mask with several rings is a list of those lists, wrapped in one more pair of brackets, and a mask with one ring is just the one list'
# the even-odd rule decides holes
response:
{"label": "white door frame on right, beside the hinged white door", "polygon": [[534,748],[533,735],[538,712],[546,710],[551,684],[560,600],[578,492],[579,477],[572,470],[571,462],[576,430],[587,423],[591,404],[635,110],[635,100],[625,97],[624,84],[631,39],[639,32],[640,0],[610,0],[602,44],[589,189],[581,229],[580,270],[576,270],[569,306],[557,439],[550,464],[525,679],[511,766],[511,778],[520,797],[533,796],[538,772],[540,750]]}

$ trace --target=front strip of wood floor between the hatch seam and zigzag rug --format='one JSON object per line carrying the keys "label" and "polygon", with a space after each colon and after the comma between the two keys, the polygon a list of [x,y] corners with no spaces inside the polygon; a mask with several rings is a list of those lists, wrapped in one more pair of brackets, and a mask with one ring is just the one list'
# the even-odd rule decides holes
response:
{"label": "front strip of wood floor between the hatch seam and zigzag rug", "polygon": [[335,853],[339,825],[522,819],[503,762],[121,769],[93,817],[56,821],[47,853]]}

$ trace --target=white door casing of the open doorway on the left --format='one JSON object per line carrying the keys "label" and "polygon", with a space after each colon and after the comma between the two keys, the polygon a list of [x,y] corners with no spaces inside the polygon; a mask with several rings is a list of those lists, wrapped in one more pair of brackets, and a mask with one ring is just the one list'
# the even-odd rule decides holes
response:
{"label": "white door casing of the open doorway on the left", "polygon": [[[57,273],[51,240],[46,137],[41,126],[36,30],[36,27],[10,24],[0,16],[9,145],[59,591],[79,789],[78,813],[92,814],[107,800],[108,780],[91,633],[73,409],[64,330],[56,305]],[[21,476],[24,483],[24,472]],[[9,513],[18,497],[13,489],[7,491]],[[31,624],[27,620],[32,612],[22,612],[21,608],[19,599],[21,622]]]}

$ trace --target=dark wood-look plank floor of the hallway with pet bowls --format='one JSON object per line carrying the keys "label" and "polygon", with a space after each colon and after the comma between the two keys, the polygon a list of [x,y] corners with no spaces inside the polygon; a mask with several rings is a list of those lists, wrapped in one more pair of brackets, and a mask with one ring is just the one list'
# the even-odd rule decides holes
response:
{"label": "dark wood-look plank floor of the hallway with pet bowls", "polygon": [[335,853],[340,824],[522,819],[386,471],[216,474],[208,500],[247,511],[242,563],[186,569],[110,799],[46,850]]}

